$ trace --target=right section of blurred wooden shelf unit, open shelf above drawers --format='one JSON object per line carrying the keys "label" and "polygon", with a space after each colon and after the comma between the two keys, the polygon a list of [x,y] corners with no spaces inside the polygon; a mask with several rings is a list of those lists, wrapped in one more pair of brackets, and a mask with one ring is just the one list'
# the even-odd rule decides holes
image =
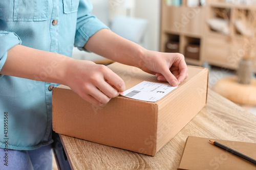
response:
{"label": "right section of blurred wooden shelf unit, open shelf above drawers", "polygon": [[[205,27],[205,61],[209,64],[225,67],[229,69],[238,69],[239,61],[243,58],[245,52],[245,42],[242,35],[237,31],[235,22],[239,19],[236,15],[237,10],[256,10],[255,5],[236,5],[224,2],[209,2],[206,5],[206,20],[213,18],[215,10],[226,9],[229,11],[228,30],[229,34],[224,35],[212,31],[206,24]],[[255,48],[255,47],[254,47]],[[253,50],[256,54],[256,48]],[[254,61],[254,70],[256,62]]]}

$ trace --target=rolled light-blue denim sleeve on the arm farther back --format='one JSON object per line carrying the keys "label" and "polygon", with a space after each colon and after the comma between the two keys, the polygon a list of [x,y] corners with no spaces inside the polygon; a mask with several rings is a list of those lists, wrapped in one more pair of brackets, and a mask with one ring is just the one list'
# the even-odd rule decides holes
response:
{"label": "rolled light-blue denim sleeve on the arm farther back", "polygon": [[88,39],[101,29],[109,29],[96,16],[91,15],[93,7],[88,0],[80,0],[77,11],[77,25],[74,46],[79,50],[85,50],[84,44]]}

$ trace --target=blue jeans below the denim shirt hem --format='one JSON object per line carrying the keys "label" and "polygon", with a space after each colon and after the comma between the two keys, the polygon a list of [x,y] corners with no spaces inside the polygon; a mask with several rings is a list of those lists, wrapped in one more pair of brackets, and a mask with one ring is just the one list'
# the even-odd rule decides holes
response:
{"label": "blue jeans below the denim shirt hem", "polygon": [[[8,153],[8,157],[6,157],[6,153]],[[49,144],[30,151],[11,149],[5,151],[0,148],[0,169],[51,170],[52,146]]]}

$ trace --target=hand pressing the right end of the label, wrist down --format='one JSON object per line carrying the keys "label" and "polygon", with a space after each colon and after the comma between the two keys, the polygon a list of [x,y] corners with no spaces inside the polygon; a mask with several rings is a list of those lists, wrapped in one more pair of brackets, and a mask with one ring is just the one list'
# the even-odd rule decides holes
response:
{"label": "hand pressing the right end of the label, wrist down", "polygon": [[139,67],[150,74],[154,74],[158,81],[167,81],[177,86],[187,78],[187,65],[180,53],[160,53],[146,50]]}

